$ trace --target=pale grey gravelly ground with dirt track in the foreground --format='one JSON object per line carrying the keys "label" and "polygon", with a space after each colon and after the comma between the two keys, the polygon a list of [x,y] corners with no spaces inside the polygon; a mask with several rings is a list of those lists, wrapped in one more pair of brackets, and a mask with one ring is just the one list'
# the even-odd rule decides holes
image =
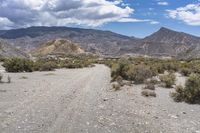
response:
{"label": "pale grey gravelly ground with dirt track in the foreground", "polygon": [[142,85],[114,92],[104,65],[4,75],[12,83],[0,84],[1,133],[200,133],[200,105],[159,87],[156,98],[141,96]]}

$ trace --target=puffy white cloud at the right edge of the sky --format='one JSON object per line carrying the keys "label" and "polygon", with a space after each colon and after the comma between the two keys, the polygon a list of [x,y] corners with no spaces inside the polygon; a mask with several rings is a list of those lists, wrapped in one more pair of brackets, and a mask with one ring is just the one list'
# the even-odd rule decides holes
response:
{"label": "puffy white cloud at the right edge of the sky", "polygon": [[200,3],[167,10],[167,12],[172,19],[181,20],[188,25],[200,26]]}

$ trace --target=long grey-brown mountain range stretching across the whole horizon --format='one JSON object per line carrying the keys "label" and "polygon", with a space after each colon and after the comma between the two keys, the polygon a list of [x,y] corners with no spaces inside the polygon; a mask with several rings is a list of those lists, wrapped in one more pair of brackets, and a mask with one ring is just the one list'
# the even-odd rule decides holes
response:
{"label": "long grey-brown mountain range stretching across the whole horizon", "polygon": [[148,37],[139,39],[110,31],[69,27],[29,27],[0,30],[0,38],[29,53],[45,43],[70,40],[90,53],[101,56],[148,55],[181,58],[200,57],[200,37],[162,27]]}

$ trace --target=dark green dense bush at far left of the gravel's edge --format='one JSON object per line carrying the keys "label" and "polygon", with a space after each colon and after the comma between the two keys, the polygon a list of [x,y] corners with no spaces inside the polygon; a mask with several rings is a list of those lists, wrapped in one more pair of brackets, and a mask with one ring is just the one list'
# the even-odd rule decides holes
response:
{"label": "dark green dense bush at far left of the gravel's edge", "polygon": [[7,72],[32,72],[33,62],[28,59],[11,58],[4,61]]}

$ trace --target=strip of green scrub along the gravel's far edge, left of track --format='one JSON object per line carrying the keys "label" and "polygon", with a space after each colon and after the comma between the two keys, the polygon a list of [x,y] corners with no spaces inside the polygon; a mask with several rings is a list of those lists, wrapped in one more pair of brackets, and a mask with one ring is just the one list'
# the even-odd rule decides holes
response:
{"label": "strip of green scrub along the gravel's far edge, left of track", "polygon": [[29,59],[11,58],[4,61],[7,72],[53,71],[57,68],[83,68],[92,66],[95,57],[69,57],[66,59]]}

